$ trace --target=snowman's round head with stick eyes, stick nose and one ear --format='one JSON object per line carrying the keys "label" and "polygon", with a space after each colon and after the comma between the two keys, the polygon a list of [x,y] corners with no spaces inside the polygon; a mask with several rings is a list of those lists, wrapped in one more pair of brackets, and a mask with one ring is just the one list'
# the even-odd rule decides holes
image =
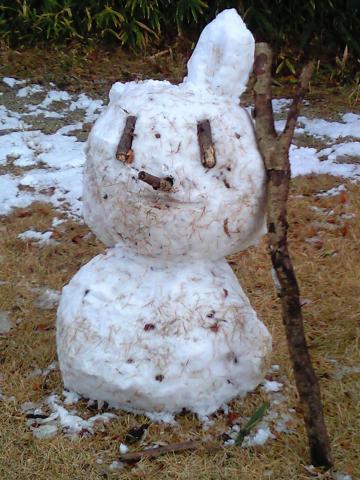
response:
{"label": "snowman's round head with stick eyes, stick nose and one ear", "polygon": [[235,10],[209,24],[180,85],[116,83],[87,145],[84,217],[107,245],[220,258],[257,240],[264,167],[240,108],[254,40]]}

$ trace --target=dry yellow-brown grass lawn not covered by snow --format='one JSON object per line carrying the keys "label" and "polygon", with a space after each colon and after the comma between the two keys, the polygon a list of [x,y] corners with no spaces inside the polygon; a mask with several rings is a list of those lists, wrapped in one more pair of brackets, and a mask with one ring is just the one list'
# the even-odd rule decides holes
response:
{"label": "dry yellow-brown grass lawn not covered by snow", "polygon": [[[119,78],[153,76],[178,80],[186,58],[185,54],[171,56],[169,53],[150,60],[129,59],[116,53],[113,59],[99,52],[90,53],[82,59],[74,56],[66,70],[64,58],[71,56],[71,52],[67,55],[58,52],[56,56],[33,51],[31,56],[30,51],[3,51],[6,61],[0,68],[0,76],[31,78],[34,82],[42,78],[45,82],[55,81],[60,88],[86,90],[103,96],[109,85]],[[163,70],[158,64],[164,64]],[[332,92],[330,96],[324,91],[318,91],[317,96],[313,92],[310,102],[309,113],[328,118],[348,107],[347,92],[337,95]],[[311,138],[298,141],[307,145],[314,142]],[[336,469],[356,479],[360,478],[360,379],[356,370],[345,367],[360,367],[360,186],[346,184],[346,195],[316,196],[339,183],[339,179],[329,176],[307,176],[292,182],[290,248],[301,285],[307,337],[321,382]],[[145,421],[140,416],[117,412],[117,420],[99,428],[93,436],[77,441],[62,434],[51,440],[35,439],[26,426],[21,404],[41,400],[54,391],[59,395],[62,392],[57,369],[45,377],[29,377],[35,368],[45,368],[56,360],[55,309],[44,310],[36,306],[36,288],[60,290],[81,265],[104,248],[92,235],[87,235],[88,230],[83,225],[66,220],[56,228],[51,227],[55,216],[59,217],[59,212],[50,206],[33,204],[1,219],[0,310],[10,312],[14,328],[0,336],[0,389],[3,395],[15,399],[0,404],[0,478],[330,478],[310,473],[306,468],[309,460],[301,406],[294,387],[265,242],[233,256],[230,263],[259,316],[272,332],[272,363],[278,364],[280,371],[269,374],[268,378],[284,383],[286,399],[276,408],[279,413],[294,409],[291,433],[276,434],[276,438],[262,447],[221,447],[215,453],[168,454],[117,471],[107,466],[117,459],[119,443],[129,428]],[[53,230],[57,243],[39,247],[17,238],[19,233],[30,228]],[[231,407],[241,416],[251,415],[266,399],[266,394],[258,389],[245,400],[234,401]],[[93,415],[85,401],[76,408],[83,418]],[[218,438],[231,418],[223,413],[215,415],[214,424],[207,431],[192,415],[179,416],[177,420],[177,427],[151,424],[147,442]],[[98,459],[103,463],[97,463]]]}

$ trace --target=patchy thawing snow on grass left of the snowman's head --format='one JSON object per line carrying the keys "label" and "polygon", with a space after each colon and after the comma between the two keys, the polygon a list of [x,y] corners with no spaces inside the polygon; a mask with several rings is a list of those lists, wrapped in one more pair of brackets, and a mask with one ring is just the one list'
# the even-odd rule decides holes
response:
{"label": "patchy thawing snow on grass left of the snowman's head", "polygon": [[[51,203],[70,216],[81,217],[82,165],[85,161],[84,142],[67,134],[79,130],[83,122],[66,125],[67,115],[79,110],[84,121],[93,122],[103,108],[102,100],[93,100],[84,93],[68,92],[26,85],[4,77],[3,83],[17,90],[24,101],[22,113],[0,106],[0,165],[9,167],[0,175],[0,215],[9,215],[14,208],[24,208],[34,201]],[[45,98],[38,104],[26,104],[34,93]],[[64,108],[55,111],[54,102],[64,102]],[[31,118],[63,117],[64,126],[53,134],[31,129]],[[10,132],[8,132],[10,130]],[[10,173],[12,168],[20,170]],[[31,168],[32,167],[32,168]],[[26,168],[26,170],[25,170]],[[29,188],[30,187],[30,188]],[[47,194],[54,189],[52,195]],[[45,193],[43,193],[45,192]]]}

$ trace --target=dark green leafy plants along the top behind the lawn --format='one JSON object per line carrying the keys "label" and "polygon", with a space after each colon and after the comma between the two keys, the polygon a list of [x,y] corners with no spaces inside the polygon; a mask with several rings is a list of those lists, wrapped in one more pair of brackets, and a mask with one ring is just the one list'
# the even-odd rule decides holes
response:
{"label": "dark green leafy plants along the top behind the lawn", "polygon": [[13,45],[77,38],[144,48],[199,30],[228,7],[275,47],[338,55],[347,46],[360,57],[358,0],[2,0],[0,36]]}

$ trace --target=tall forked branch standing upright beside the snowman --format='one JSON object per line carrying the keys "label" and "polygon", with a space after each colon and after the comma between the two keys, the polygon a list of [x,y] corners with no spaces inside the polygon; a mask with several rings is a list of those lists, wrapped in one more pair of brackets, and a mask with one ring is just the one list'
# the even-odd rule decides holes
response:
{"label": "tall forked branch standing upright beside the snowman", "polygon": [[289,148],[293,138],[300,105],[313,72],[306,65],[300,77],[298,91],[290,107],[286,126],[281,135],[274,128],[271,106],[272,53],[268,44],[256,45],[254,73],[255,132],[263,157],[268,188],[268,242],[273,268],[278,281],[282,320],[297,390],[304,410],[311,463],[329,469],[332,466],[318,379],[309,355],[301,312],[300,293],[287,244],[287,199],[290,183]]}

